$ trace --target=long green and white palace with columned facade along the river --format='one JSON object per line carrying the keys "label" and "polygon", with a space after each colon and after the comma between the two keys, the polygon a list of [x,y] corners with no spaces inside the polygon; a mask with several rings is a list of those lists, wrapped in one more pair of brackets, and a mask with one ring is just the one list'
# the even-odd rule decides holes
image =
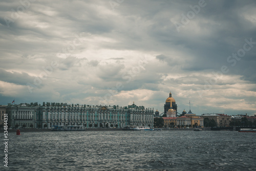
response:
{"label": "long green and white palace with columned facade along the river", "polygon": [[53,126],[81,126],[84,128],[124,127],[140,125],[153,127],[154,109],[136,104],[128,106],[79,105],[67,103],[9,104],[6,108],[9,125],[51,129]]}

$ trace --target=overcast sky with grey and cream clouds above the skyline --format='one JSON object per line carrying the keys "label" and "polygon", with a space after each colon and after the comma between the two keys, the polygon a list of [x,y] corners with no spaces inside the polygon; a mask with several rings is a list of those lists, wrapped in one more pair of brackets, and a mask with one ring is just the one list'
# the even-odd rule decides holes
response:
{"label": "overcast sky with grey and cream clouds above the skyline", "polygon": [[0,2],[0,104],[256,114],[256,1]]}

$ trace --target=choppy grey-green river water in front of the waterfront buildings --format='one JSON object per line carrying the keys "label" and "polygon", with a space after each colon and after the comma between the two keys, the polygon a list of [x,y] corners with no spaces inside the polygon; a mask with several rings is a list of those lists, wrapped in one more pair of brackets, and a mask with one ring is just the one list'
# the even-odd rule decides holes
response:
{"label": "choppy grey-green river water in front of the waterfront buildings", "polygon": [[[4,133],[0,134],[3,141]],[[2,158],[1,170],[256,170],[255,133],[98,131],[15,134],[9,133],[9,167],[3,166]],[[3,143],[3,152],[2,149]]]}

